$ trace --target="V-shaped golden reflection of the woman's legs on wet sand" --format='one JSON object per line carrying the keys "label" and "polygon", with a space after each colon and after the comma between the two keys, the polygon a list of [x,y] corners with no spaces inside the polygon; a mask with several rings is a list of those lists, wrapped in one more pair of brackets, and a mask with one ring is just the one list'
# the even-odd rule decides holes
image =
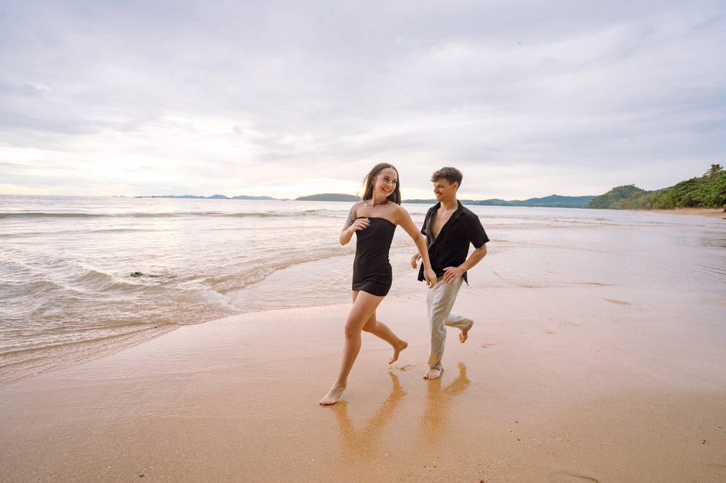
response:
{"label": "V-shaped golden reflection of the woman's legs on wet sand", "polygon": [[340,424],[340,437],[343,442],[343,458],[354,456],[360,458],[365,456],[372,458],[377,454],[376,443],[383,434],[383,428],[391,421],[393,412],[399,405],[401,399],[406,395],[403,387],[399,383],[396,374],[389,372],[393,387],[391,394],[380,405],[378,411],[368,420],[361,429],[357,429],[350,416],[348,416],[348,404],[346,401],[340,401],[338,404],[331,406],[333,413],[338,418]]}

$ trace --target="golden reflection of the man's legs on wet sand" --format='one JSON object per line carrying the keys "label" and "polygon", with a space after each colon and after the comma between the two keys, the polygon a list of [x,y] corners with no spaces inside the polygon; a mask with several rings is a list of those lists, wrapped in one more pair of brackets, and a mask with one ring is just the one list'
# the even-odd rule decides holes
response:
{"label": "golden reflection of the man's legs on wet sand", "polygon": [[449,405],[457,395],[464,392],[471,384],[466,376],[466,366],[459,363],[459,376],[446,387],[441,387],[441,379],[426,382],[426,408],[421,418],[423,437],[427,442],[441,439],[446,432]]}

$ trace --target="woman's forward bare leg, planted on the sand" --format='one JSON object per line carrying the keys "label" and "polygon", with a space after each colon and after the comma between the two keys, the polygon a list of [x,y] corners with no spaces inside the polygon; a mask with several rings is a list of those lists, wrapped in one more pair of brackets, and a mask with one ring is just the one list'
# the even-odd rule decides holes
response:
{"label": "woman's forward bare leg, planted on the sand", "polygon": [[383,300],[383,297],[376,297],[367,292],[359,292],[357,296],[354,294],[354,300],[353,308],[348,313],[348,321],[346,321],[343,360],[340,361],[340,373],[338,373],[338,379],[335,379],[333,387],[320,400],[320,404],[322,405],[335,404],[340,399],[343,391],[346,390],[348,374],[351,373],[353,364],[361,350],[361,331],[370,319],[370,316],[375,315],[375,309]]}

